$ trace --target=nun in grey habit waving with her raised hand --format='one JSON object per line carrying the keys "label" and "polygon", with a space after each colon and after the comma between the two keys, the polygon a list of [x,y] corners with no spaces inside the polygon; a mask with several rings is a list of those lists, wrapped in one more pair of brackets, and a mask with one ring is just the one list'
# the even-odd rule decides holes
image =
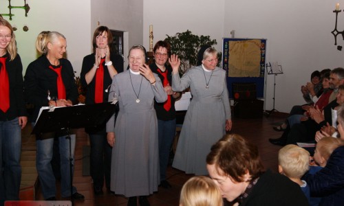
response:
{"label": "nun in grey habit waving with her raised hand", "polygon": [[173,167],[187,174],[204,175],[211,146],[232,128],[226,71],[217,67],[217,51],[202,47],[202,65],[188,69],[180,78],[180,60],[172,55],[173,91],[190,87],[193,96],[186,112]]}

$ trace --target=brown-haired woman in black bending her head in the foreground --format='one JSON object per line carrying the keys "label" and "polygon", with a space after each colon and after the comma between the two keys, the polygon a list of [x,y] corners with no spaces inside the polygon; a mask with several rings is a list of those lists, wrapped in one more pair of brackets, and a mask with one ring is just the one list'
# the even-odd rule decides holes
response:
{"label": "brown-haired woman in black bending her head in the foreground", "polygon": [[308,205],[300,186],[264,171],[257,146],[240,135],[225,135],[211,147],[206,168],[222,197],[239,205]]}

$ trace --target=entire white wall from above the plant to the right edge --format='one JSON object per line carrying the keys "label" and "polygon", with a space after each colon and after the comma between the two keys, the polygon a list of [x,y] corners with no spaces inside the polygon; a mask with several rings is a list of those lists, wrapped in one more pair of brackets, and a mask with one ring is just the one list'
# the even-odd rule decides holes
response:
{"label": "entire white wall from above the plant to the right edge", "polygon": [[[144,0],[143,41],[149,45],[149,25],[153,25],[154,43],[165,34],[191,30],[195,34],[217,39],[222,37],[267,38],[267,62],[278,61],[283,74],[276,78],[275,108],[289,112],[295,104],[303,104],[300,87],[310,80],[314,70],[344,67],[343,55],[334,46],[336,3],[344,0]],[[338,18],[343,30],[344,14]],[[344,45],[338,36],[338,45]],[[267,76],[266,109],[272,109],[274,76]]]}

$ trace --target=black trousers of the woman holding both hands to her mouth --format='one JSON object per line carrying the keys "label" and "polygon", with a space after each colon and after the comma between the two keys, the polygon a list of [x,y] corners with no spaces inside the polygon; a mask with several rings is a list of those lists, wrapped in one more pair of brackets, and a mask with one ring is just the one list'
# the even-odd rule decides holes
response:
{"label": "black trousers of the woman holding both hands to her mouth", "polygon": [[110,172],[111,172],[111,152],[112,148],[107,143],[107,134],[89,134],[91,144],[90,153],[90,172],[93,179],[94,188],[100,190],[104,185],[110,188]]}

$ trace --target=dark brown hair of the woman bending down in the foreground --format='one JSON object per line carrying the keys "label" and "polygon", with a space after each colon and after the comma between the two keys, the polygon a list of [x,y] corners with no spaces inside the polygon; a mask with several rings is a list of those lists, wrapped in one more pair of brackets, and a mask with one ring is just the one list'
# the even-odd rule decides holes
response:
{"label": "dark brown hair of the woman bending down in the foreground", "polygon": [[219,139],[211,147],[206,163],[215,165],[217,169],[224,171],[224,175],[230,176],[237,183],[245,181],[244,175],[247,172],[251,179],[256,179],[264,172],[257,146],[236,134],[224,135]]}

